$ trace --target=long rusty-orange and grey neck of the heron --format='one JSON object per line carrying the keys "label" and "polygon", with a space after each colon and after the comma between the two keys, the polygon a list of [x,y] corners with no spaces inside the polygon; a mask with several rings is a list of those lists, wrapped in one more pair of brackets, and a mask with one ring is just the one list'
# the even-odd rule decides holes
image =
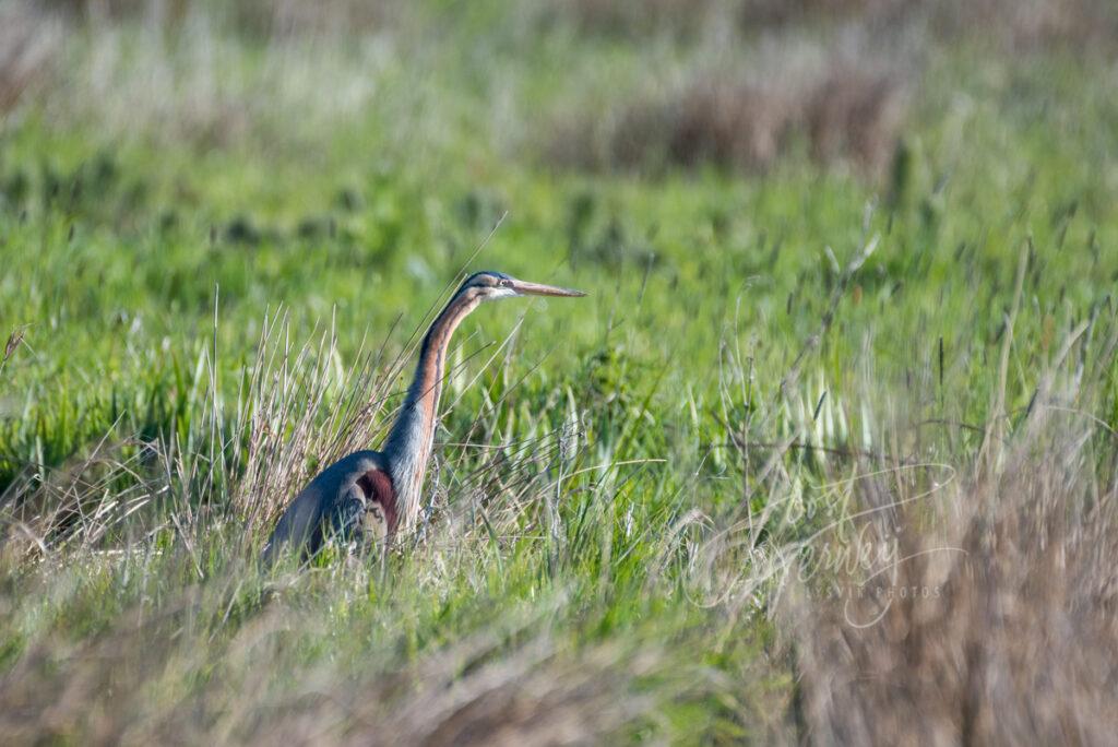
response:
{"label": "long rusty-orange and grey neck of the heron", "polygon": [[396,489],[401,529],[410,528],[419,514],[423,481],[435,444],[438,400],[451,335],[479,303],[480,299],[467,290],[451,299],[432,323],[419,348],[415,379],[385,442],[383,452]]}

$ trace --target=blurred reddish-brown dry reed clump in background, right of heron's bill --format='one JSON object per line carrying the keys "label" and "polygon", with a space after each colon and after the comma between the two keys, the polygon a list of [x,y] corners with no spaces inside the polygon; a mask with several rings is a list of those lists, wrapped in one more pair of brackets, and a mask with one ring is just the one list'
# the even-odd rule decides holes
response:
{"label": "blurred reddish-brown dry reed clump in background, right of heron's bill", "polygon": [[819,69],[790,85],[699,74],[667,95],[631,104],[614,121],[563,123],[549,157],[581,168],[758,171],[806,142],[817,162],[849,162],[872,176],[897,149],[904,101],[903,82],[883,72]]}

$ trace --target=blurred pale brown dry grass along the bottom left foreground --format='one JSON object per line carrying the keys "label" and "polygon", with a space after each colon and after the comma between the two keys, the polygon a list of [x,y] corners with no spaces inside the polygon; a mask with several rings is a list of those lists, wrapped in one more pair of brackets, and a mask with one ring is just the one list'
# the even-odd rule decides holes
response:
{"label": "blurred pale brown dry grass along the bottom left foreground", "polygon": [[[6,743],[82,734],[91,745],[587,744],[650,716],[654,693],[636,694],[633,681],[664,665],[653,645],[565,653],[534,631],[539,621],[524,621],[399,670],[368,668],[339,682],[323,669],[277,693],[269,672],[285,659],[294,621],[264,609],[231,640],[176,634],[206,602],[183,598],[158,618],[136,611],[105,634],[27,652],[0,680]],[[510,650],[510,636],[523,642]],[[221,672],[207,675],[216,660]],[[161,700],[161,683],[183,671],[209,685]]]}

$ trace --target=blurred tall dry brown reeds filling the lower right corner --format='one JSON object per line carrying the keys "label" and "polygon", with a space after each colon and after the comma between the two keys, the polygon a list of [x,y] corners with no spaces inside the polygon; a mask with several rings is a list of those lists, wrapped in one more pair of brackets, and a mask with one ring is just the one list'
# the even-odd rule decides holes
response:
{"label": "blurred tall dry brown reeds filling the lower right corner", "polygon": [[1069,427],[1081,417],[1052,413],[1052,432],[1015,444],[997,475],[901,511],[892,531],[911,559],[894,574],[845,587],[849,602],[797,608],[814,739],[1109,741],[1118,483],[1109,466],[1096,475],[1114,434]]}

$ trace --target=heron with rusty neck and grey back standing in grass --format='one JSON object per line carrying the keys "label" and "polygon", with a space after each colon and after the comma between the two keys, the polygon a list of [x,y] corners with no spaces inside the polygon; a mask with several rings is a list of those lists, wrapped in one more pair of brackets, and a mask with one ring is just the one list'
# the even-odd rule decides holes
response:
{"label": "heron with rusty neck and grey back standing in grass", "polygon": [[586,294],[493,271],[467,277],[424,337],[415,379],[383,448],[353,452],[319,473],[280,518],[264,548],[266,561],[285,549],[312,556],[331,539],[361,546],[382,543],[415,526],[435,443],[451,335],[483,301],[523,295]]}

